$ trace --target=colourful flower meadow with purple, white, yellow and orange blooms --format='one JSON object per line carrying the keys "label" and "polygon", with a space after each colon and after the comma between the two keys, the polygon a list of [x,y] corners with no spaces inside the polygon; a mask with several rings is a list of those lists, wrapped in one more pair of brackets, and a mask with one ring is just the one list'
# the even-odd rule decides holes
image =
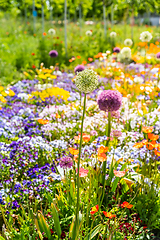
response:
{"label": "colourful flower meadow with purple, white, yellow and orange blooms", "polygon": [[160,239],[159,29],[1,22],[0,240]]}

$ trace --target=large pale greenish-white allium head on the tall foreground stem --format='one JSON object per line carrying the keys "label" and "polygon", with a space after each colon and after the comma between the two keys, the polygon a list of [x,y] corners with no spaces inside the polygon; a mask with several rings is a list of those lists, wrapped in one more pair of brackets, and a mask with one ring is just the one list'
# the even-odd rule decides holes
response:
{"label": "large pale greenish-white allium head on the tall foreground stem", "polygon": [[91,69],[85,69],[82,72],[78,72],[75,78],[75,84],[80,92],[92,92],[98,85],[97,74]]}

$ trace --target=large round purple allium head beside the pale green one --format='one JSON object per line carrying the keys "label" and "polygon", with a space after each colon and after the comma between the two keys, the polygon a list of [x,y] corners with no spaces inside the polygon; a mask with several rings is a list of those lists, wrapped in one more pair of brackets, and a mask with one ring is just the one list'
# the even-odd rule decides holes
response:
{"label": "large round purple allium head beside the pale green one", "polygon": [[117,111],[122,104],[122,95],[118,91],[104,90],[98,96],[97,103],[102,111]]}

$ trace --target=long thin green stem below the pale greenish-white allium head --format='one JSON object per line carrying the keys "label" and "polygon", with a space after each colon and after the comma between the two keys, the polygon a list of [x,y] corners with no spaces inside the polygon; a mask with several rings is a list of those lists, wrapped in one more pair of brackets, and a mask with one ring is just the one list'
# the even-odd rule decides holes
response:
{"label": "long thin green stem below the pale greenish-white allium head", "polygon": [[79,188],[80,188],[80,181],[79,181],[79,168],[80,168],[80,158],[81,158],[81,148],[82,148],[82,134],[83,134],[83,123],[84,123],[84,116],[86,110],[86,93],[84,95],[84,105],[83,105],[83,116],[82,116],[82,123],[81,123],[81,137],[80,137],[80,145],[79,145],[79,155],[78,155],[78,171],[77,171],[77,208],[76,208],[76,233],[79,231]]}

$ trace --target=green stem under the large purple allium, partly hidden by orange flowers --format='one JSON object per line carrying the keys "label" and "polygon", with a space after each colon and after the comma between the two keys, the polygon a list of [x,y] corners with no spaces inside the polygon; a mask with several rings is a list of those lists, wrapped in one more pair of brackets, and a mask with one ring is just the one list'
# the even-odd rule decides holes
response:
{"label": "green stem under the large purple allium, partly hidden by orange flowers", "polygon": [[[106,135],[108,137],[108,140],[106,141],[106,147],[108,147],[108,145],[109,145],[110,133],[111,133],[111,112],[108,112],[108,124],[107,124],[107,128],[106,128]],[[103,166],[102,166],[103,197],[104,197],[104,192],[105,192],[106,164],[107,164],[107,161],[103,162]]]}

